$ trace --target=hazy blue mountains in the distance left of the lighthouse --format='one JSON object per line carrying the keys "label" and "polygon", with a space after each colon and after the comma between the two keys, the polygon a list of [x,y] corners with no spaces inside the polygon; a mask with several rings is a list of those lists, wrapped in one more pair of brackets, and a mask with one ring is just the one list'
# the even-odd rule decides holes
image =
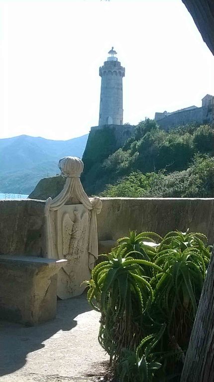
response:
{"label": "hazy blue mountains in the distance left of the lighthouse", "polygon": [[82,158],[87,139],[88,134],[67,141],[28,135],[0,139],[0,192],[29,194],[41,178],[60,173],[60,158]]}

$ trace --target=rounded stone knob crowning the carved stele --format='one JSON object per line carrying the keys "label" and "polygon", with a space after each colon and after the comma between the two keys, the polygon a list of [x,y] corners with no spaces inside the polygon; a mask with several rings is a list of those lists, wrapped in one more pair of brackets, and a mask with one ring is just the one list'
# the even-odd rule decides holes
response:
{"label": "rounded stone knob crowning the carved stele", "polygon": [[65,156],[59,160],[59,168],[62,175],[67,177],[80,177],[83,172],[84,164],[80,158],[76,156]]}

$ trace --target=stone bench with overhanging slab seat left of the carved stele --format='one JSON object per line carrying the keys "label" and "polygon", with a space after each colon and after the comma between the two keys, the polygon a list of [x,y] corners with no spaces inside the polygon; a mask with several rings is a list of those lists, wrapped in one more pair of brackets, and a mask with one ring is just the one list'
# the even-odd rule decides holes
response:
{"label": "stone bench with overhanging slab seat left of the carved stele", "polygon": [[53,319],[57,272],[66,262],[0,255],[0,320],[32,326]]}

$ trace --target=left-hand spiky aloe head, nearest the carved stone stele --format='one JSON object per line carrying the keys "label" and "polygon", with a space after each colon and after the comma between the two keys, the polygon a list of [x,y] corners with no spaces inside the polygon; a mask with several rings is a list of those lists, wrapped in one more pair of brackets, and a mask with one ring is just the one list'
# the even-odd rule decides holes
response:
{"label": "left-hand spiky aloe head, nearest the carved stone stele", "polygon": [[99,341],[111,361],[120,357],[122,348],[135,350],[144,336],[142,317],[153,300],[144,268],[162,271],[152,262],[132,258],[133,251],[126,252],[117,247],[108,261],[94,268],[88,291],[89,302],[102,313]]}

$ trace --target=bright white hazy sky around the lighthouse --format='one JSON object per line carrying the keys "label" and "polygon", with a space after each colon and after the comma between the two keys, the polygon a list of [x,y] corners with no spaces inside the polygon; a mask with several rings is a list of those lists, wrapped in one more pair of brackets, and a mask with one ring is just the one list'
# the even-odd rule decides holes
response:
{"label": "bright white hazy sky around the lighthouse", "polygon": [[111,46],[126,70],[124,123],[214,94],[214,57],[181,0],[0,0],[0,138],[96,126]]}

